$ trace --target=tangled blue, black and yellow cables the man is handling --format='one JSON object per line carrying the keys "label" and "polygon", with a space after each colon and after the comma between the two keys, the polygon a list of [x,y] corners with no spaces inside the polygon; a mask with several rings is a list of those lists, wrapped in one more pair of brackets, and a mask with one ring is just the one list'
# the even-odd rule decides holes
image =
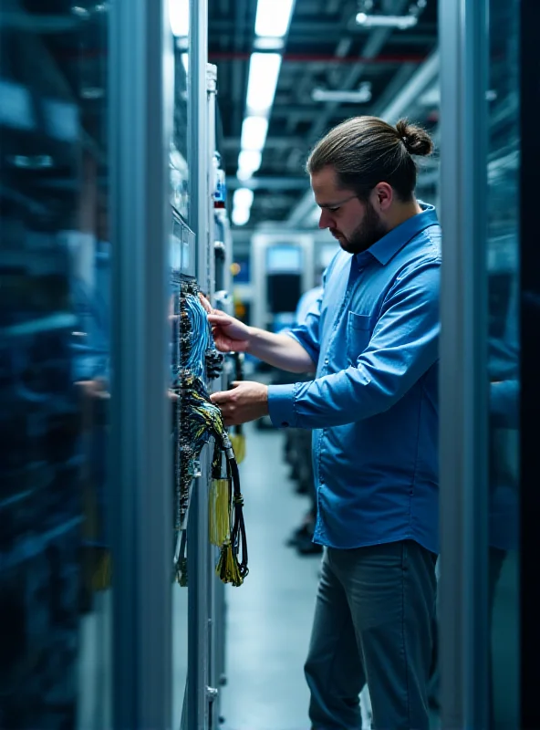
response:
{"label": "tangled blue, black and yellow cables the man is handling", "polygon": [[[222,414],[210,401],[204,385],[205,366],[211,364],[214,373],[219,358],[213,347],[212,330],[198,297],[194,281],[182,280],[180,297],[175,307],[178,329],[173,359],[173,390],[179,395],[176,407],[175,449],[175,576],[187,585],[185,557],[185,519],[187,516],[193,477],[203,446],[214,439],[213,485],[211,490],[211,542],[221,547],[216,572],[223,582],[242,584],[247,575],[247,544],[245,539],[243,505],[238,465]],[[219,360],[219,363],[221,363]],[[208,372],[207,372],[208,374]],[[224,474],[221,461],[225,460]],[[219,464],[219,466],[218,466]],[[219,474],[218,474],[219,472]],[[215,477],[218,478],[215,478]],[[239,561],[239,555],[242,556]]]}

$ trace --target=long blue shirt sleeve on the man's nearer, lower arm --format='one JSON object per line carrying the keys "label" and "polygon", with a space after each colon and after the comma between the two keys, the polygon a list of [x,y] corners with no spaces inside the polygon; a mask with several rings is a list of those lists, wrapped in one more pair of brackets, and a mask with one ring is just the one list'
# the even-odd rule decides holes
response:
{"label": "long blue shirt sleeve on the man's nearer, lower arm", "polygon": [[355,365],[311,382],[270,386],[272,422],[315,429],[387,411],[438,360],[439,288],[438,259],[401,276]]}

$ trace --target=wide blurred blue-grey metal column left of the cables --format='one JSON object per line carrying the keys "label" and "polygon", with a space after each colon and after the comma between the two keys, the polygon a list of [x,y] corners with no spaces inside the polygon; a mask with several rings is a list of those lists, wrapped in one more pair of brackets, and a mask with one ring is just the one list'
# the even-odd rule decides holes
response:
{"label": "wide blurred blue-grey metal column left of the cables", "polygon": [[113,722],[158,730],[171,726],[171,48],[163,0],[115,0],[110,13]]}

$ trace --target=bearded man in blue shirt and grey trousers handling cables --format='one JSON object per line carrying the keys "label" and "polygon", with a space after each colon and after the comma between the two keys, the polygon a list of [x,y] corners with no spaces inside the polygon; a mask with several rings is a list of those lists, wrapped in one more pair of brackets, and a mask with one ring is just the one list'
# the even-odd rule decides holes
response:
{"label": "bearded man in blue shirt and grey trousers handling cables", "polygon": [[427,730],[438,537],[441,229],[414,197],[411,155],[428,134],[401,120],[348,120],[307,162],[341,251],[292,337],[209,319],[218,349],[244,349],[314,381],[242,382],[213,401],[226,423],[269,413],[312,429],[314,539],[326,546],[306,680],[316,730],[361,726],[368,683],[377,730]]}

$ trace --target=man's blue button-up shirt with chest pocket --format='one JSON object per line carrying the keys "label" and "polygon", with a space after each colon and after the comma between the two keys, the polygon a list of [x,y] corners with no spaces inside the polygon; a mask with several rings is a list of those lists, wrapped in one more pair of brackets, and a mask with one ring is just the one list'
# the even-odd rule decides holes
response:
{"label": "man's blue button-up shirt with chest pocket", "polygon": [[314,430],[317,543],[439,551],[440,276],[441,228],[422,204],[368,251],[339,251],[290,333],[317,378],[270,386],[268,406],[274,425]]}

